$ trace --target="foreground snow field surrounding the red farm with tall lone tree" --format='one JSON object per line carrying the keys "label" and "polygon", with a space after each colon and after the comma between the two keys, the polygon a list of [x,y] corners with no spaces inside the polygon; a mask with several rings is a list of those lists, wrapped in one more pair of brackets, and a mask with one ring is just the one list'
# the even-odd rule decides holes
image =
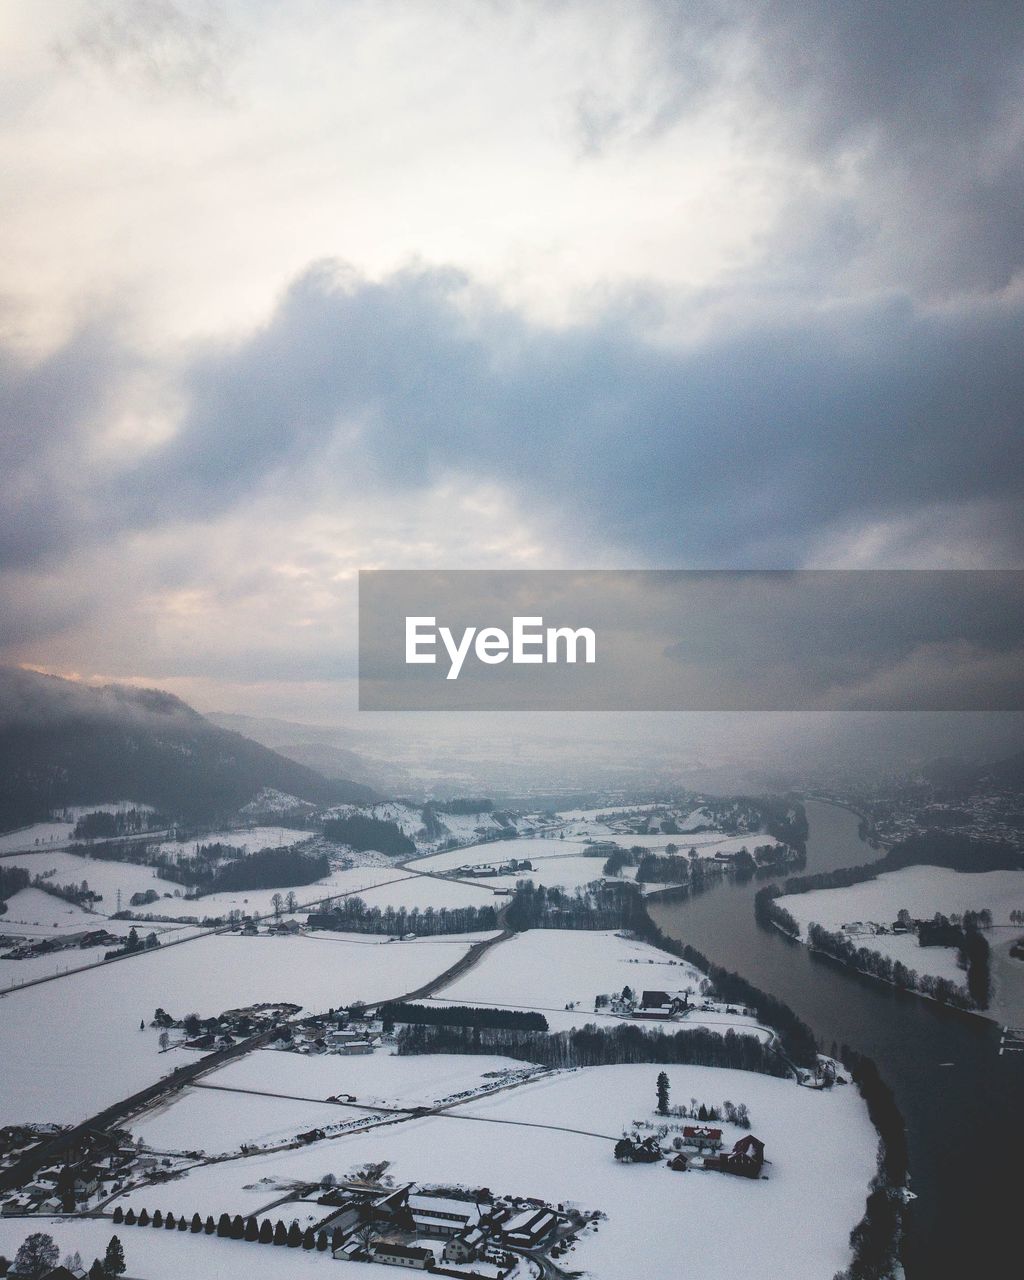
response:
{"label": "foreground snow field surrounding the red farm with tall lone tree", "polygon": [[[443,1116],[195,1169],[159,1189],[132,1192],[122,1203],[152,1211],[159,1202],[164,1211],[189,1215],[197,1204],[214,1216],[257,1213],[280,1198],[289,1180],[340,1176],[385,1160],[396,1180],[486,1185],[603,1211],[607,1221],[562,1260],[563,1267],[598,1280],[636,1275],[640,1260],[645,1280],[820,1280],[846,1266],[850,1228],[864,1210],[877,1144],[856,1092],[815,1092],[753,1073],[671,1066],[673,1100],[748,1105],[771,1161],[767,1181],[675,1174],[663,1164],[620,1165],[612,1144],[623,1126],[655,1120],[658,1070],[644,1065],[563,1073]],[[320,1210],[291,1204],[279,1212],[303,1224],[305,1215]],[[133,1230],[123,1231],[129,1261]],[[241,1254],[239,1274],[259,1252]],[[227,1252],[224,1257],[227,1262]]]}

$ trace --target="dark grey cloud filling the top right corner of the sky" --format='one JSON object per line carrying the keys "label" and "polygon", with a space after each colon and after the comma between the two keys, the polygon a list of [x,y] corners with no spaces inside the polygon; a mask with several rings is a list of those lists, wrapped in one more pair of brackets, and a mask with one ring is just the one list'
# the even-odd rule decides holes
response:
{"label": "dark grey cloud filling the top right corner of the sky", "polygon": [[890,270],[906,253],[902,280],[1002,287],[1024,265],[1020,5],[648,0],[636,12],[646,60],[636,83],[580,100],[586,152],[662,137],[739,95],[745,124],[783,152],[826,172],[854,157],[858,234],[883,244]]}

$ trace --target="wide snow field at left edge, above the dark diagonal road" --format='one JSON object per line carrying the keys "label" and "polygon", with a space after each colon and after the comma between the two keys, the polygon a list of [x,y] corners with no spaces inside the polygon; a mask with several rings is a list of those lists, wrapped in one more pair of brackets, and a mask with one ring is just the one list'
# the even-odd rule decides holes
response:
{"label": "wide snow field at left edge, above the dark diagonal road", "polygon": [[9,992],[0,997],[0,1124],[78,1120],[172,1071],[187,1051],[159,1053],[156,1030],[138,1029],[157,1006],[210,1016],[257,1001],[320,1010],[397,997],[485,936],[210,936]]}

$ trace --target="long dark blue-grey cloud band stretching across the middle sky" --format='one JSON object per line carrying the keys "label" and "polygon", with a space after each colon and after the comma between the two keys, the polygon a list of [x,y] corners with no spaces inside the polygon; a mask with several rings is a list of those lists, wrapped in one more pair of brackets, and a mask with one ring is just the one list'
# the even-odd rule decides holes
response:
{"label": "long dark blue-grey cloud band stretching across the middle sky", "polygon": [[449,275],[308,274],[192,370],[182,430],[120,490],[131,518],[210,515],[319,460],[340,499],[498,480],[648,562],[799,563],[845,522],[964,503],[1004,512],[992,532],[1021,549],[1019,311],[878,303],[680,352],[628,314],[548,332],[467,316],[458,293]]}

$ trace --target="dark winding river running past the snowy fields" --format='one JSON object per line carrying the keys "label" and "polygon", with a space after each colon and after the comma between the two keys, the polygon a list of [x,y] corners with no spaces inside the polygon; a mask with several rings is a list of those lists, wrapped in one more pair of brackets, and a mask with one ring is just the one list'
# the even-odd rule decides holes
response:
{"label": "dark winding river running past the snowy fields", "polygon": [[[850,810],[809,800],[806,812],[808,873],[877,856]],[[908,1213],[909,1280],[1010,1274],[1007,1260],[1019,1267],[1024,1253],[1016,1217],[1024,1211],[1024,1055],[998,1056],[998,1028],[986,1019],[897,992],[759,925],[753,896],[764,883],[726,879],[681,902],[655,900],[650,915],[783,1000],[826,1051],[846,1043],[878,1064],[906,1120],[918,1196]]]}

